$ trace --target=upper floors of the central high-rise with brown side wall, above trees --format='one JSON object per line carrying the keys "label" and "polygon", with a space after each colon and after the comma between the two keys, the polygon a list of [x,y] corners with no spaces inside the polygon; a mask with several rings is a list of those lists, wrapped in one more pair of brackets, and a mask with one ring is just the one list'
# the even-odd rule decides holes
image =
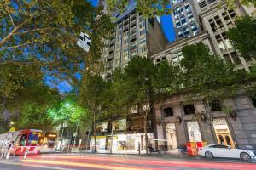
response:
{"label": "upper floors of the central high-rise with brown side wall, above trees", "polygon": [[102,59],[105,63],[104,78],[111,78],[115,68],[123,69],[133,57],[147,57],[162,50],[167,39],[156,18],[145,19],[131,1],[121,14],[114,13],[115,29],[108,40],[104,40]]}

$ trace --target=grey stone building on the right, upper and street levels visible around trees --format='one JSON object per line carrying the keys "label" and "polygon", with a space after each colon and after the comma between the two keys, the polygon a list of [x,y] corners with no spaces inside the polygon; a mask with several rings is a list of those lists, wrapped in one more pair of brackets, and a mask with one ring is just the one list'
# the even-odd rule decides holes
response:
{"label": "grey stone building on the right, upper and street levels visible around trees", "polygon": [[[178,3],[179,1],[177,1]],[[182,3],[185,1],[181,1]],[[231,62],[238,69],[248,70],[254,62],[244,59],[233,48],[226,36],[230,27],[235,26],[237,15],[249,14],[247,8],[238,6],[229,10],[221,1],[194,1],[196,14],[201,20],[201,32],[195,37],[178,39],[159,54],[151,58],[155,64],[167,59],[178,65],[183,59],[182,48],[202,42],[208,46],[211,54],[220,56],[225,62]],[[220,5],[220,6],[219,6]],[[164,150],[183,148],[187,142],[207,142],[207,144],[227,144],[245,149],[256,148],[256,109],[254,98],[240,91],[230,99],[211,102],[213,122],[196,120],[196,113],[207,113],[202,101],[187,103],[188,94],[176,94],[154,105],[156,120],[154,136],[159,140],[158,147]],[[236,116],[224,111],[232,108]]]}

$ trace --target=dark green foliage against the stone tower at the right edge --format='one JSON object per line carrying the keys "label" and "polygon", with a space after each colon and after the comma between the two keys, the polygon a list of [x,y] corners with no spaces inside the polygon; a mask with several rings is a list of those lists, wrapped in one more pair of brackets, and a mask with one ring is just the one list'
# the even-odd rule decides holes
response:
{"label": "dark green foliage against the stone tower at the right edge", "polygon": [[[230,28],[227,35],[231,44],[243,56],[251,58],[256,55],[256,17],[245,15],[236,20],[236,26]],[[245,41],[246,40],[246,41]]]}

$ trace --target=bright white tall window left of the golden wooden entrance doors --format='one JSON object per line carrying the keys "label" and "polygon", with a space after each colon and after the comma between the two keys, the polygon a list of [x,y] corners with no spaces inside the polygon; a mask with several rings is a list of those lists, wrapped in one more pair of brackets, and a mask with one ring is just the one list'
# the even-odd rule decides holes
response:
{"label": "bright white tall window left of the golden wooden entrance doors", "polygon": [[201,142],[201,132],[198,125],[198,122],[187,122],[187,129],[189,133],[190,142]]}

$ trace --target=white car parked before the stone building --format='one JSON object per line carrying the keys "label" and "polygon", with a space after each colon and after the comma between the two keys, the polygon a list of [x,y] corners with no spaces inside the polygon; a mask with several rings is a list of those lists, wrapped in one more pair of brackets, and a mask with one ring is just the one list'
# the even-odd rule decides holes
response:
{"label": "white car parked before the stone building", "polygon": [[224,144],[209,144],[199,149],[198,154],[200,156],[212,157],[229,157],[229,158],[241,158],[243,161],[249,161],[256,159],[256,151],[233,149],[230,146]]}

